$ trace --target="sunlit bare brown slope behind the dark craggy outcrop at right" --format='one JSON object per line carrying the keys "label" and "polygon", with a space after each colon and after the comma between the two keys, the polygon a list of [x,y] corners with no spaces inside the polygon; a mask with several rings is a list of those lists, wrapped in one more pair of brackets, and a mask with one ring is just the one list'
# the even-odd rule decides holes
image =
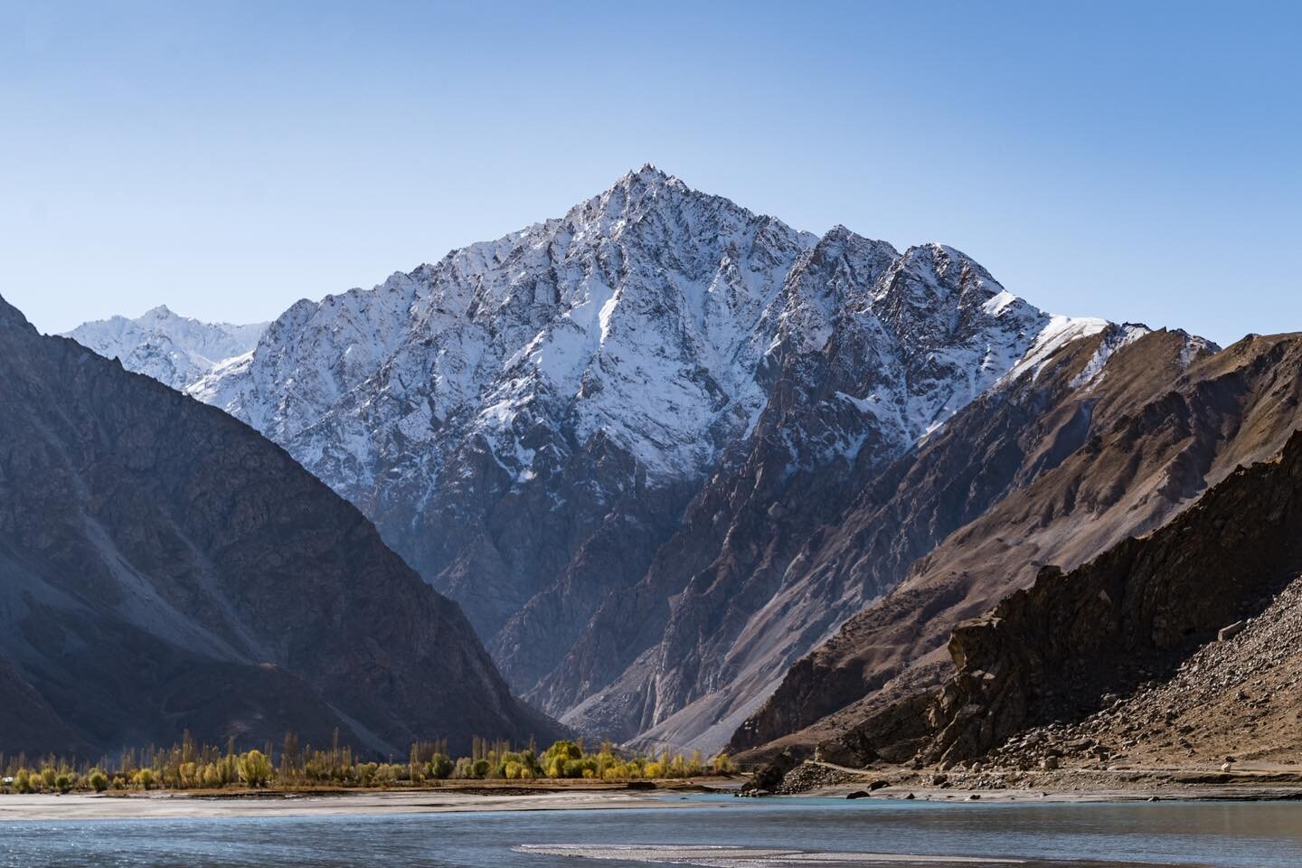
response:
{"label": "sunlit bare brown slope behind the dark craggy outcrop at right", "polygon": [[[1302,340],[1294,336],[1250,337],[1210,354],[1180,334],[1154,333],[1117,349],[1101,376],[1072,388],[1094,368],[1082,349],[1065,347],[1025,385],[987,396],[1000,406],[974,405],[918,452],[901,492],[923,489],[919,471],[943,472],[956,495],[975,491],[956,454],[980,457],[980,474],[1003,474],[1014,491],[982,508],[894,591],[794,666],[737,733],[734,748],[835,739],[898,696],[924,692],[945,675],[944,644],[958,622],[1029,586],[1043,565],[1072,569],[1165,524],[1302,426]],[[947,444],[949,437],[961,440]],[[852,573],[880,563],[897,521],[852,517],[818,560],[838,563],[838,554],[858,552]]]}

